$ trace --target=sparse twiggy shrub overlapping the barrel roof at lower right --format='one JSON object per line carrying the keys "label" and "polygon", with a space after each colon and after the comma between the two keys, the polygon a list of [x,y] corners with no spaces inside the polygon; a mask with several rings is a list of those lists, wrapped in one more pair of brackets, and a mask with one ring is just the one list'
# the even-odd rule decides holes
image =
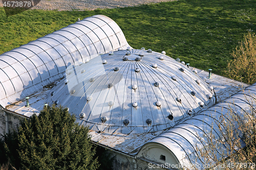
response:
{"label": "sparse twiggy shrub overlapping the barrel roof at lower right", "polygon": [[[205,164],[225,165],[224,169],[255,169],[256,96],[250,92],[241,93],[247,108],[236,103],[224,105],[222,109],[227,112],[223,111],[225,113],[212,122],[217,128],[205,129],[203,137],[198,136],[201,142],[206,143],[204,149],[197,148]],[[220,133],[215,135],[218,131]]]}

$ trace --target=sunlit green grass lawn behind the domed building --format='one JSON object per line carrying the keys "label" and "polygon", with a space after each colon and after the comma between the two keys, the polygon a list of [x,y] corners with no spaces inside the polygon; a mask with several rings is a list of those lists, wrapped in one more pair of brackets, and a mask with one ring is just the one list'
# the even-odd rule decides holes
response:
{"label": "sunlit green grass lawn behind the domed building", "polygon": [[256,31],[256,0],[180,0],[94,11],[0,10],[0,54],[95,14],[112,18],[133,48],[165,51],[191,66],[224,75],[243,35]]}

